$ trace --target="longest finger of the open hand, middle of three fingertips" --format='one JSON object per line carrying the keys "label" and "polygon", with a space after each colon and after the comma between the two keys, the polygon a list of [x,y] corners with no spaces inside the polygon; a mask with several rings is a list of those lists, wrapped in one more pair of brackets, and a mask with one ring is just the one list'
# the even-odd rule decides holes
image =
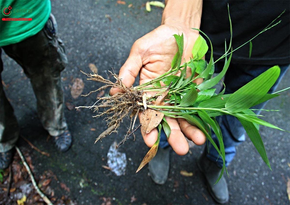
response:
{"label": "longest finger of the open hand, middle of three fingertips", "polygon": [[169,117],[165,117],[165,119],[171,129],[170,136],[167,139],[168,143],[178,155],[185,155],[189,150],[189,145],[180,130],[177,120]]}

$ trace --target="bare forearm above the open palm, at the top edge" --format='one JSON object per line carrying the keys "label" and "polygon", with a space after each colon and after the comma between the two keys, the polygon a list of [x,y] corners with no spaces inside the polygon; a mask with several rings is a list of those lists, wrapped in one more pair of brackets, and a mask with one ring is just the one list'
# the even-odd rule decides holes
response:
{"label": "bare forearm above the open palm, at the top edge", "polygon": [[166,0],[162,23],[200,28],[202,0]]}

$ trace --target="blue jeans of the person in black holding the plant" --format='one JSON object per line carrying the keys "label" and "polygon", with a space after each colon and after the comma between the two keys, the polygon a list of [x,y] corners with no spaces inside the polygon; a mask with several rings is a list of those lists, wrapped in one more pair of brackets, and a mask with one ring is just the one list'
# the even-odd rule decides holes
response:
{"label": "blue jeans of the person in black holding the plant", "polygon": [[[287,65],[279,65],[281,72],[278,80],[276,83],[271,87],[269,90],[269,93],[273,93],[278,84],[280,83],[280,80],[284,76],[285,72],[289,68],[289,64]],[[218,62],[215,65],[215,70],[217,72],[220,72],[223,67],[223,63]],[[259,76],[263,72],[265,72],[270,67],[273,67],[273,65],[242,65],[242,64],[234,64],[231,63],[229,66],[229,69],[226,72],[224,84],[226,85],[226,91],[224,94],[231,94],[235,91],[237,91],[240,87],[246,85],[249,81],[253,80],[255,77]],[[266,102],[261,103],[259,105],[256,105],[253,107],[253,109],[262,109]],[[256,112],[256,114],[259,114]],[[245,130],[240,123],[239,120],[237,120],[235,117],[230,115],[222,115],[216,117],[216,120],[218,121],[220,125],[220,129],[222,130],[222,136],[224,141],[224,147],[225,147],[225,153],[226,153],[226,166],[229,165],[229,163],[233,160],[236,149],[235,146],[239,145],[241,142],[245,141]],[[218,145],[218,140],[215,136],[215,134],[212,134],[212,138],[215,141],[215,143]],[[169,146],[166,135],[164,131],[162,130],[161,136],[160,136],[160,147],[166,148]],[[222,167],[223,162],[222,158],[219,157],[218,152],[215,150],[213,146],[210,146],[209,143],[209,150],[206,150],[206,156],[209,158],[209,160],[216,162],[218,166]]]}

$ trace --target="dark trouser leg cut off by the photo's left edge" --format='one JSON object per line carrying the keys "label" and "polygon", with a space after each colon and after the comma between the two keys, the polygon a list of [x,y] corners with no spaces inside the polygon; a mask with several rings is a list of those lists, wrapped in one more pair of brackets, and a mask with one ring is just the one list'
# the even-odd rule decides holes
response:
{"label": "dark trouser leg cut off by the photo's left edge", "polygon": [[[1,49],[1,48],[0,48]],[[3,62],[0,50],[0,69],[3,71]],[[0,75],[2,82],[2,77]],[[19,138],[19,127],[13,108],[7,100],[3,85],[0,82],[0,152],[6,152],[15,146]]]}

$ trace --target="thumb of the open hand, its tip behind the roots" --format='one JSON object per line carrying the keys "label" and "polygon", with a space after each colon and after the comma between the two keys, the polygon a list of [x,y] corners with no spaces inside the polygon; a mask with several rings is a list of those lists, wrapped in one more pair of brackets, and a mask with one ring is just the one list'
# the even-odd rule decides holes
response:
{"label": "thumb of the open hand, its tip behind the roots", "polygon": [[[134,43],[131,48],[129,57],[119,71],[119,78],[122,80],[122,83],[124,83],[126,87],[131,87],[134,84],[135,78],[137,77],[139,70],[143,65],[142,58],[138,50],[139,49],[136,43]],[[119,88],[112,88],[110,90],[110,95],[114,95],[120,91],[121,90]]]}

